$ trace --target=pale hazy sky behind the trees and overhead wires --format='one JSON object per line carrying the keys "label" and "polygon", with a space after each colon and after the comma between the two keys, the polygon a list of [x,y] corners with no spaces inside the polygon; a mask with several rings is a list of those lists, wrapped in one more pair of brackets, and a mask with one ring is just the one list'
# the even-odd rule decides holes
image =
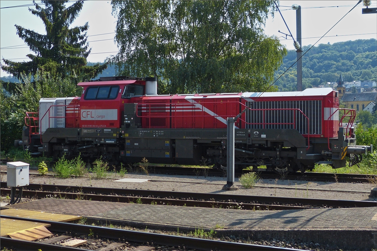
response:
{"label": "pale hazy sky behind the trees and overhead wires", "polygon": [[[39,0],[36,0],[36,2],[40,3]],[[357,0],[282,0],[279,3],[279,8],[293,34],[293,37],[296,39],[296,11],[290,6],[294,3],[301,6],[302,45],[305,46],[316,43],[317,40],[349,10],[351,10],[357,2]],[[2,8],[0,9],[1,59],[5,58],[12,59],[13,61],[28,61],[26,55],[30,53],[29,47],[26,46],[24,41],[16,34],[16,29],[14,27],[15,24],[45,34],[44,25],[41,19],[32,15],[28,10],[28,8],[34,8],[33,6],[5,8],[8,6],[29,4],[32,4],[32,1],[0,1],[0,7]],[[377,7],[377,0],[372,0],[372,5],[370,7]],[[361,14],[362,8],[365,7],[360,3],[316,45],[328,42],[333,44],[340,41],[357,39],[377,39],[377,15]],[[104,61],[108,56],[115,55],[118,51],[118,48],[114,43],[116,18],[111,14],[111,10],[110,1],[85,1],[79,17],[72,24],[72,26],[81,26],[84,23],[89,22],[89,30],[87,34],[89,35],[88,41],[89,46],[92,48],[92,52],[87,60],[90,62]],[[286,40],[285,35],[279,33],[278,30],[284,33],[289,33],[279,12],[275,12],[274,17],[271,17],[270,15],[266,22],[265,33],[270,36],[283,36],[279,38],[280,42],[286,45],[287,49],[294,49],[293,41],[291,39]],[[8,74],[0,71],[0,76],[8,76]]]}

